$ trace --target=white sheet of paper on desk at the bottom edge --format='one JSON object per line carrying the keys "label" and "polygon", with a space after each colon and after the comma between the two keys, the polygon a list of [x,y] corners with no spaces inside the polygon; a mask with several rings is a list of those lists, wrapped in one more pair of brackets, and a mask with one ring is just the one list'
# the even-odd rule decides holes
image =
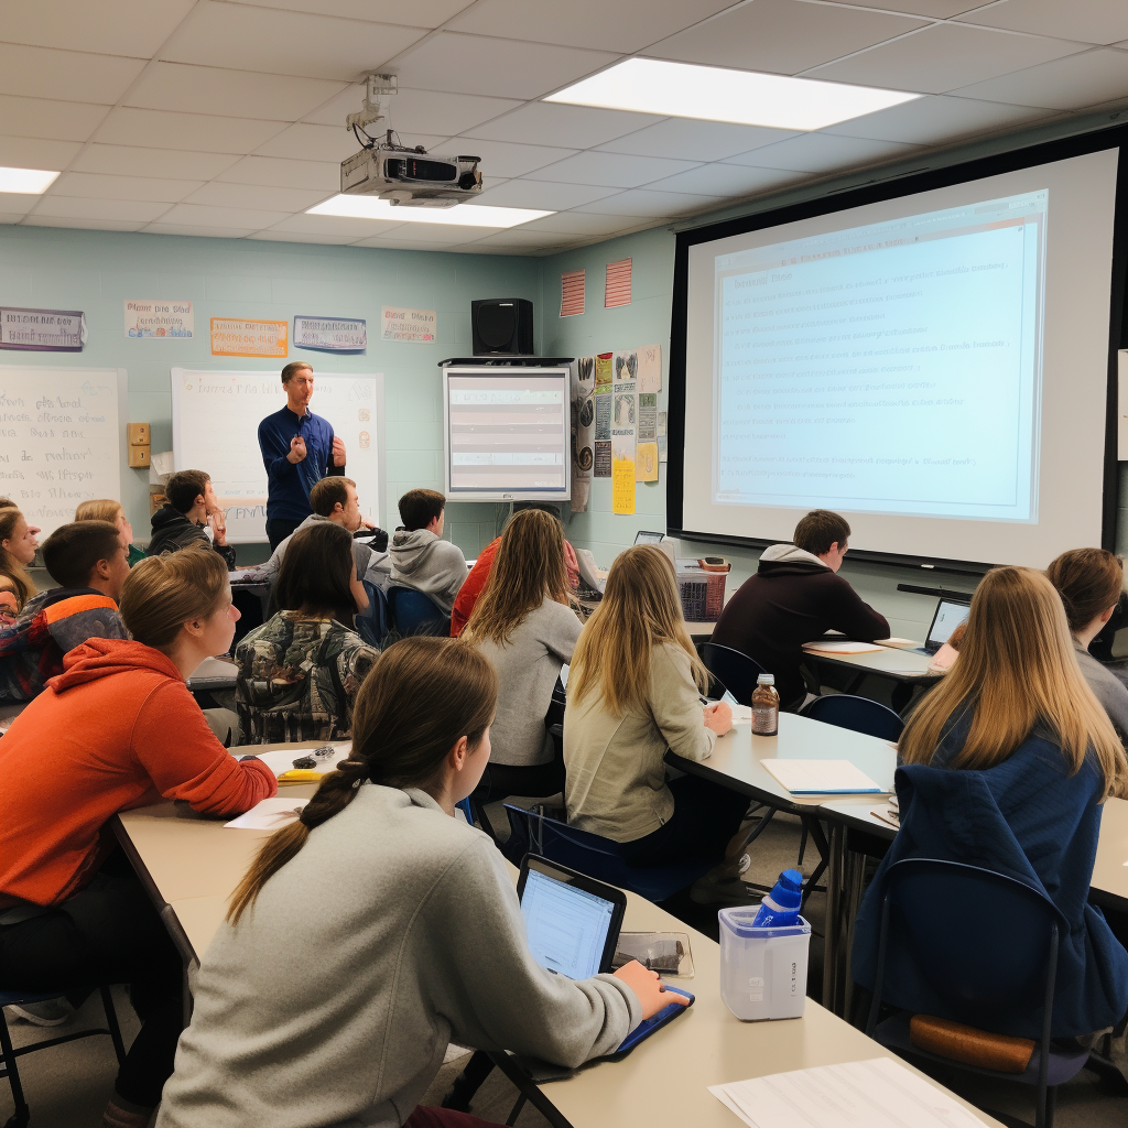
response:
{"label": "white sheet of paper on desk at the bottom edge", "polygon": [[892,1058],[776,1073],[710,1092],[752,1128],[982,1128],[946,1090]]}

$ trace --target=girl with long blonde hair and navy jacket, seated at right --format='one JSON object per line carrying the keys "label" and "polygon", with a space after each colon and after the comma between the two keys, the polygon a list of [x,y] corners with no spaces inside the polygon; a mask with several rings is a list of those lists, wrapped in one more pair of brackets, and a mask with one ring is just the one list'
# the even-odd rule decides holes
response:
{"label": "girl with long blonde hair and navy jacket, seated at right", "polygon": [[[984,866],[1043,891],[1065,918],[1054,1038],[1117,1023],[1128,1007],[1128,952],[1089,904],[1101,803],[1128,793],[1128,761],[1077,666],[1061,600],[1032,569],[988,572],[971,600],[960,659],[913,711],[898,741],[900,832],[862,902],[853,973],[872,987],[889,867],[932,857]],[[969,936],[975,922],[968,922]],[[948,1013],[895,950],[884,994]],[[1041,1037],[1041,987],[1029,1005],[997,1011],[992,1029]]]}

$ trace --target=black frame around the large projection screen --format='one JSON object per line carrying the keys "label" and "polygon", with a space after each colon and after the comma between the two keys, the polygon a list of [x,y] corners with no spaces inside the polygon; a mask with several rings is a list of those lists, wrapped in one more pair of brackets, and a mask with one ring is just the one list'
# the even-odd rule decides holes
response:
{"label": "black frame around the large projection screen", "polygon": [[[1114,125],[1078,136],[1026,146],[1010,152],[964,161],[948,168],[892,176],[888,180],[830,192],[814,200],[787,204],[768,211],[723,220],[679,231],[675,243],[673,290],[670,323],[670,391],[669,391],[669,464],[666,486],[667,528],[671,537],[732,545],[741,548],[766,548],[777,540],[765,537],[735,537],[707,532],[687,526],[684,512],[686,465],[686,338],[689,307],[689,249],[716,239],[761,231],[765,228],[813,219],[834,212],[845,212],[865,204],[898,200],[904,196],[952,187],[971,180],[1020,171],[1037,165],[1048,165],[1069,157],[1119,148],[1117,184],[1112,220],[1112,275],[1110,280],[1108,382],[1104,415],[1104,468],[1101,497],[1101,547],[1113,549],[1117,522],[1117,385],[1119,349],[1125,347],[1125,299],[1128,292],[1128,126]],[[982,575],[997,562],[945,559],[901,553],[851,548],[851,558],[901,567],[929,569],[957,574]]]}

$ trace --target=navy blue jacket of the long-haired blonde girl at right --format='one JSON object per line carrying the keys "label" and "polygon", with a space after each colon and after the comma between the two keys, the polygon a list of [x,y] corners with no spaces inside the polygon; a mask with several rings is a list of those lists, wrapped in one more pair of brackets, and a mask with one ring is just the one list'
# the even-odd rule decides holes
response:
{"label": "navy blue jacket of the long-haired blonde girl at right", "polygon": [[[941,744],[938,761],[949,761],[962,747],[960,734],[967,724]],[[1068,922],[1068,933],[1059,938],[1054,1037],[1075,1038],[1114,1025],[1128,1008],[1128,952],[1101,910],[1089,904],[1102,791],[1092,755],[1070,776],[1057,743],[1031,733],[1006,760],[987,770],[906,765],[897,769],[896,786],[901,828],[857,916],[855,981],[873,986],[889,867],[909,857],[962,862],[1047,895]],[[968,927],[973,943],[973,925]],[[943,1006],[905,953],[889,953],[884,984],[882,995],[906,1010],[960,1019]],[[1032,999],[1025,1013],[999,1013],[993,1029],[1040,1038],[1040,999]]]}

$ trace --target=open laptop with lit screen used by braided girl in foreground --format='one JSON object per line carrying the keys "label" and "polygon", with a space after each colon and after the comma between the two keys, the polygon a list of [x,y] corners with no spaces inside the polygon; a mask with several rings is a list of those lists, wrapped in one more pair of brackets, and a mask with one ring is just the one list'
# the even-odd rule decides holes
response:
{"label": "open laptop with lit screen used by braided girl in foreground", "polygon": [[[589,979],[611,970],[615,945],[623,927],[626,895],[614,885],[594,881],[575,870],[527,854],[517,883],[521,916],[534,959],[543,968],[569,979]],[[689,992],[666,985],[693,1005]],[[619,1060],[655,1030],[676,1019],[687,1007],[671,1003],[652,1019],[640,1023],[617,1050],[606,1055]]]}

